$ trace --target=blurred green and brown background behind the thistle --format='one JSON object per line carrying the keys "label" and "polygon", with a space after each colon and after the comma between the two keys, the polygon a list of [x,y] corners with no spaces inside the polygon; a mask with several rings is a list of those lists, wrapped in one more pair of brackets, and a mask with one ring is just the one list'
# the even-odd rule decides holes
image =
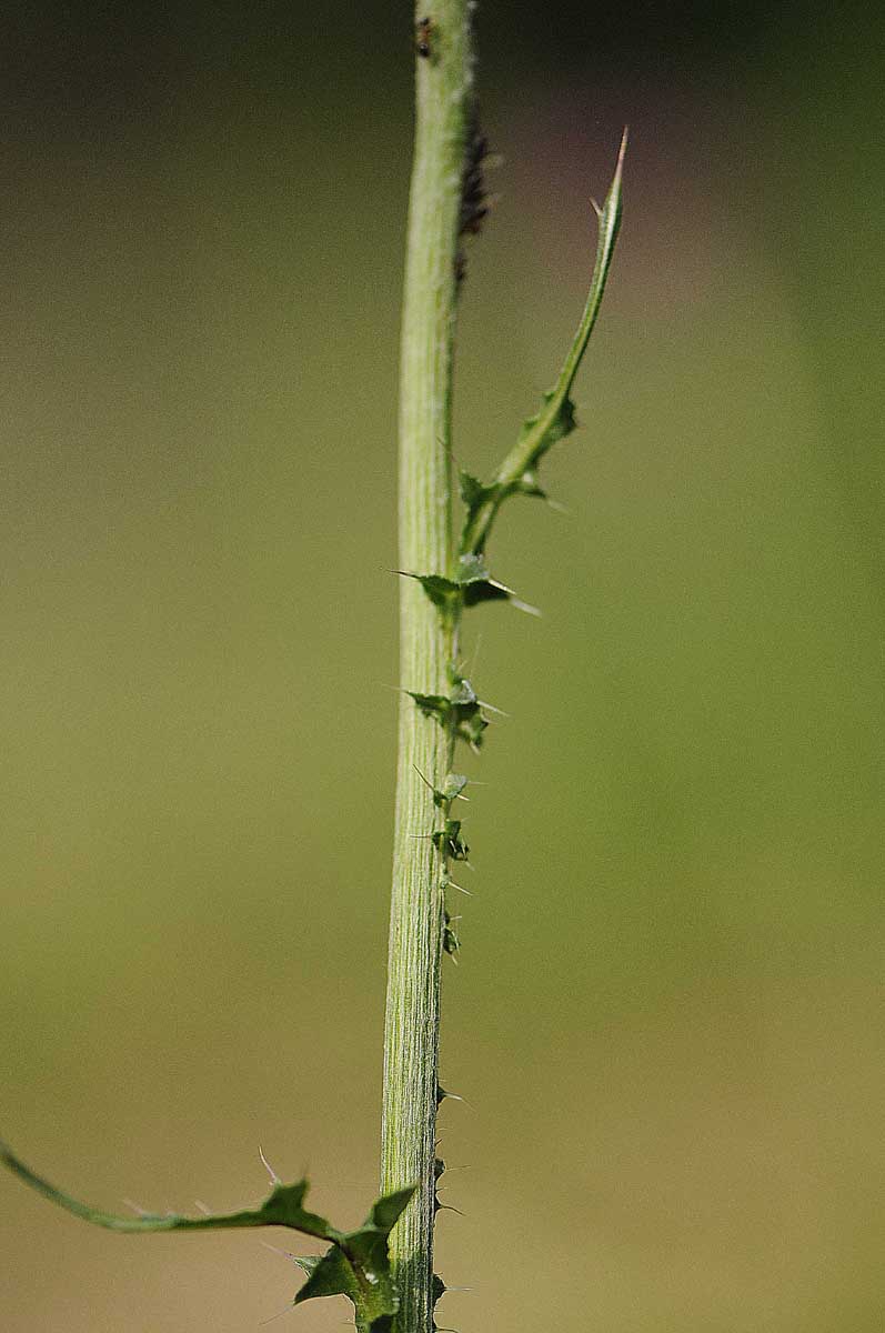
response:
{"label": "blurred green and brown background behind the thistle", "polygon": [[[488,0],[458,460],[560,364],[477,613],[440,1322],[881,1333],[881,37]],[[3,135],[4,1134],[115,1208],[376,1184],[407,5],[39,4]],[[343,925],[344,922],[344,925]],[[281,1240],[285,1244],[285,1238]],[[248,1234],[0,1178],[11,1333],[247,1330]],[[280,1321],[332,1330],[343,1302]]]}

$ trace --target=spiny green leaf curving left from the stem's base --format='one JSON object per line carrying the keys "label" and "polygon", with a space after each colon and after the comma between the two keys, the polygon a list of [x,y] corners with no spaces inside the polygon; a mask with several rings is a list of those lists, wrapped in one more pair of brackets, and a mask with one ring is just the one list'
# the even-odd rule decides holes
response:
{"label": "spiny green leaf curving left from the stem's base", "polygon": [[331,1241],[332,1248],[324,1256],[295,1260],[308,1273],[308,1281],[296,1294],[295,1304],[300,1305],[312,1296],[348,1296],[353,1301],[360,1330],[369,1330],[376,1320],[396,1313],[399,1301],[391,1276],[388,1236],[415,1189],[400,1189],[376,1200],[367,1221],[356,1232],[340,1232],[325,1217],[304,1208],[307,1180],[293,1185],[277,1182],[257,1208],[244,1208],[236,1213],[211,1213],[200,1217],[144,1213],[139,1217],[119,1217],[56,1189],[43,1176],[25,1166],[12,1149],[1,1142],[0,1161],[51,1202],[87,1222],[113,1232],[205,1232],[241,1226],[289,1226],[304,1236]]}

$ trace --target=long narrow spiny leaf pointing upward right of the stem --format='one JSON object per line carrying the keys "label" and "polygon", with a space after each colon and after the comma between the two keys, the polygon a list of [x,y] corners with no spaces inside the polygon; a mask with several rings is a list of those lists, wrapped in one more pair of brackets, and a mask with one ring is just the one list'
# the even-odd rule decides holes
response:
{"label": "long narrow spiny leaf pointing upward right of the stem", "polygon": [[544,495],[537,480],[537,465],[548,449],[570,435],[576,427],[574,404],[570,396],[572,385],[600,313],[605,283],[614,256],[614,244],[621,225],[621,180],[625,152],[626,131],[621,139],[614,176],[605,203],[597,211],[596,261],[584,313],[556,385],[542,395],[540,411],[522,424],[517,441],[504,459],[494,480],[489,485],[482,485],[470,477],[466,488],[464,481],[461,483],[461,495],[465,497],[468,511],[461,536],[461,551],[465,555],[481,553],[485,549],[497,511],[508,496]]}

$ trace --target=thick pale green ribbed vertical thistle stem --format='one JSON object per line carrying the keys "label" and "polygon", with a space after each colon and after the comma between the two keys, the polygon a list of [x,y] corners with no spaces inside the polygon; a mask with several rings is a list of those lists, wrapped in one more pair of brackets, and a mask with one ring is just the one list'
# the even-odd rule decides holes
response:
{"label": "thick pale green ribbed vertical thistle stem", "polygon": [[[424,20],[420,0],[416,23]],[[472,123],[469,0],[437,0],[416,55],[416,140],[409,197],[400,360],[400,568],[449,575],[453,565],[450,403],[456,256]],[[420,584],[400,587],[400,685],[448,694],[457,627]],[[433,1214],[444,928],[444,849],[432,833],[453,732],[403,694],[384,1040],[383,1189],[417,1185],[391,1236],[400,1293],[396,1333],[433,1326]]]}

